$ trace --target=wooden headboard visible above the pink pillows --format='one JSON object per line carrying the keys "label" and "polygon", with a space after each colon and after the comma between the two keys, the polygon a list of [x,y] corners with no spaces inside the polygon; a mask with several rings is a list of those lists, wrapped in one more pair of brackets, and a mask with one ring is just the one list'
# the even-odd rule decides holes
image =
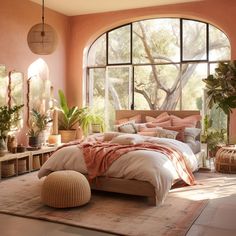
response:
{"label": "wooden headboard visible above the pink pillows", "polygon": [[[160,111],[160,110],[116,110],[116,120],[130,118],[132,116],[141,114],[142,123],[145,123],[145,116],[157,117],[163,112],[167,112],[169,115],[175,115],[180,118],[184,118],[191,115],[200,115],[200,111]],[[201,128],[201,123],[197,124],[198,128]]]}

